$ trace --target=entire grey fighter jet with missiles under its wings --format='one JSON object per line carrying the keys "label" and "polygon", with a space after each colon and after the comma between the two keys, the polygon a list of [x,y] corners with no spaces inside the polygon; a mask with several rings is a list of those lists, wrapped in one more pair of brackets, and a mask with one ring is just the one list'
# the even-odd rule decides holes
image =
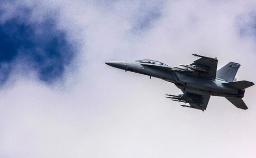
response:
{"label": "entire grey fighter jet with missiles under its wings", "polygon": [[[200,57],[189,65],[180,67],[168,66],[154,60],[139,60],[135,62],[110,61],[109,66],[120,68],[143,75],[161,78],[175,84],[183,94],[166,94],[172,101],[181,102],[181,106],[206,110],[211,95],[225,97],[237,108],[246,110],[243,102],[245,88],[254,83],[249,81],[236,81],[235,75],[240,67],[239,63],[230,62],[217,71],[217,58]],[[188,104],[187,104],[188,103]]]}

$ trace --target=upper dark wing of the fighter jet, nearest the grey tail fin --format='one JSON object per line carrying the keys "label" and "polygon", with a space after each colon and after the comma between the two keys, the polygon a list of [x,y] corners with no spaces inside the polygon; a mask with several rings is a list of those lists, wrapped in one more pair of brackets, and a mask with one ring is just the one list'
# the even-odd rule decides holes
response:
{"label": "upper dark wing of the fighter jet, nearest the grey tail fin", "polygon": [[215,79],[218,64],[217,58],[211,58],[197,54],[193,55],[200,58],[188,66],[190,66],[194,71],[199,72],[198,76]]}

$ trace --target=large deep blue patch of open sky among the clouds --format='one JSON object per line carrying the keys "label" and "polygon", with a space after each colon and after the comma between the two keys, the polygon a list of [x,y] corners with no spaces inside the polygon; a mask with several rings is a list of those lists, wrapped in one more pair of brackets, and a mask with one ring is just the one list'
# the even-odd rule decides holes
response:
{"label": "large deep blue patch of open sky among the clouds", "polygon": [[[1,3],[4,6],[4,2]],[[68,41],[66,32],[57,27],[58,14],[44,13],[44,18],[37,21],[30,7],[19,6],[18,14],[11,16],[6,16],[10,14],[7,9],[1,11],[0,84],[6,83],[15,65],[25,68],[26,73],[34,71],[45,83],[62,78],[76,49]]]}

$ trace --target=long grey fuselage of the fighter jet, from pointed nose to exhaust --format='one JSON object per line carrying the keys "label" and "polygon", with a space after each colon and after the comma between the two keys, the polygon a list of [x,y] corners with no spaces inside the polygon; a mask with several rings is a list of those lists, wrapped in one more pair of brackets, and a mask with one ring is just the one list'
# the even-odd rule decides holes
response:
{"label": "long grey fuselage of the fighter jet, from pointed nose to exhaust", "polygon": [[243,97],[244,90],[234,87],[225,86],[221,79],[209,80],[207,78],[188,75],[173,70],[173,67],[165,64],[127,62],[127,61],[111,61],[106,62],[107,65],[120,68],[125,71],[131,71],[143,75],[161,78],[162,80],[174,83],[181,91],[195,93],[200,95],[213,95],[223,97]]}

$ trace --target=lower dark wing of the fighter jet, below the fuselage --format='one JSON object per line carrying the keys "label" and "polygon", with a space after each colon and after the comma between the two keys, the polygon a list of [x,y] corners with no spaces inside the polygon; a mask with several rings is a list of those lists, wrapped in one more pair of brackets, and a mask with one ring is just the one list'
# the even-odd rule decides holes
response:
{"label": "lower dark wing of the fighter jet, below the fuselage", "polygon": [[[206,110],[206,107],[208,105],[209,99],[211,97],[211,95],[199,95],[199,94],[195,94],[195,93],[188,93],[185,91],[182,91],[184,93],[184,95],[191,97],[191,98],[197,98],[196,101],[194,102],[188,102],[190,106],[187,107],[191,107],[191,108],[197,108],[199,110]],[[181,105],[181,106],[186,106],[186,105]]]}

